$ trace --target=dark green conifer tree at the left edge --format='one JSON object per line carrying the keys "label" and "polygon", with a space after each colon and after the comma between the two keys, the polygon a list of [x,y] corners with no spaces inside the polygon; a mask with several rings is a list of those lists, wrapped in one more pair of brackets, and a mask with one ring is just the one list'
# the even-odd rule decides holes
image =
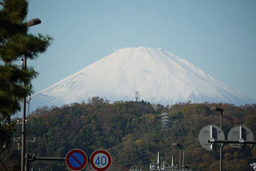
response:
{"label": "dark green conifer tree at the left edge", "polygon": [[[2,2],[1,2],[2,1]],[[20,110],[23,97],[33,93],[33,68],[16,66],[16,60],[35,59],[49,47],[52,37],[28,34],[25,0],[0,0],[0,115],[2,118]],[[24,85],[26,85],[24,87]]]}

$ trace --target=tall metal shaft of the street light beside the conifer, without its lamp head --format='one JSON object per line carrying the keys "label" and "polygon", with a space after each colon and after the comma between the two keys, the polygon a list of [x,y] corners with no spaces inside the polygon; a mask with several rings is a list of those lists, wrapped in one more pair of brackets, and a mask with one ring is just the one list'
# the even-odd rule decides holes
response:
{"label": "tall metal shaft of the street light beside the conifer, without its lamp head", "polygon": [[[24,70],[27,68],[27,56],[24,55]],[[23,83],[24,88],[26,87],[25,82]],[[23,119],[22,119],[22,170],[25,171],[25,147],[26,147],[26,96],[23,97]]]}

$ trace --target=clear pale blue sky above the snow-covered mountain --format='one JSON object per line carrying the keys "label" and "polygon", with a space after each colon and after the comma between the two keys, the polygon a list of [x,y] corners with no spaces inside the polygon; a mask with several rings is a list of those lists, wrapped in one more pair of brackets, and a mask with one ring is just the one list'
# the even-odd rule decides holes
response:
{"label": "clear pale blue sky above the snow-covered mountain", "polygon": [[[162,48],[256,99],[256,1],[30,0],[47,52],[28,61],[35,93],[125,47]],[[111,66],[110,66],[111,67]],[[87,100],[87,99],[85,99]]]}

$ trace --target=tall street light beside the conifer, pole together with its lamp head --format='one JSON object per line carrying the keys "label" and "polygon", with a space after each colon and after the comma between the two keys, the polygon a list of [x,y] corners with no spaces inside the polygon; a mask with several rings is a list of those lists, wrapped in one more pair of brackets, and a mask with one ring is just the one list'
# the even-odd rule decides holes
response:
{"label": "tall street light beside the conifer, pole together with its lamp head", "polygon": [[[27,22],[27,27],[35,26],[41,23],[41,20],[36,18],[32,19],[29,22]],[[26,70],[27,68],[27,56],[24,55],[24,66],[23,69]],[[26,83],[23,83],[23,86],[26,87]],[[25,148],[26,148],[26,96],[23,97],[23,119],[22,119],[22,170],[25,170]],[[28,166],[26,166],[26,170],[28,170]]]}

